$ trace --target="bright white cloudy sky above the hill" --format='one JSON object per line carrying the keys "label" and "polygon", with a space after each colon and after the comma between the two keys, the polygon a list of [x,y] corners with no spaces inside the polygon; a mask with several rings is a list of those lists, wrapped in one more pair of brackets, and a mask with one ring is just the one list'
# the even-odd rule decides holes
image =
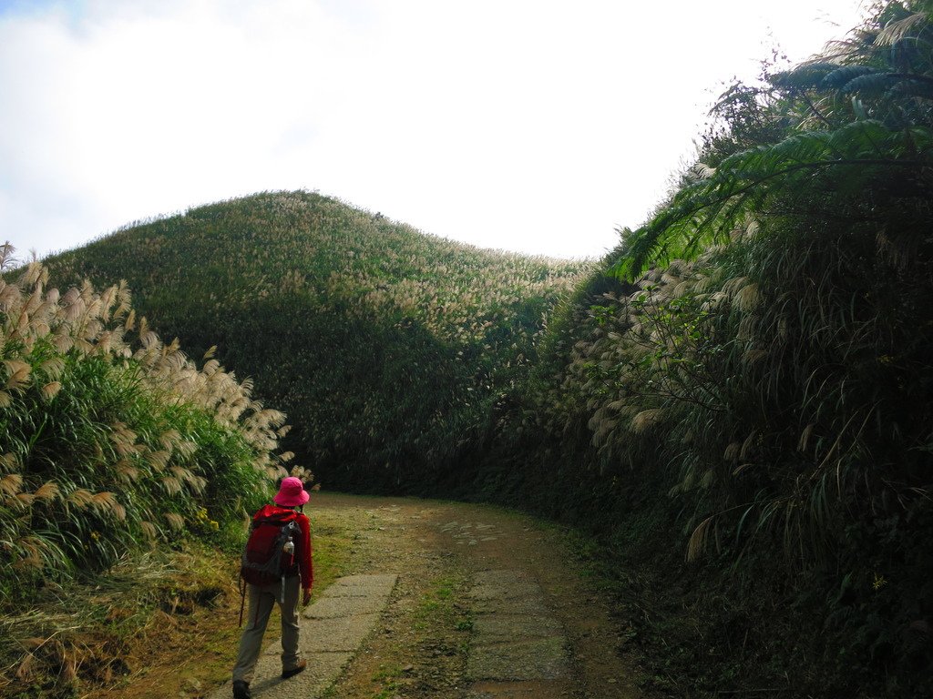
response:
{"label": "bright white cloudy sky above the hill", "polygon": [[25,254],[310,189],[485,247],[599,255],[732,75],[858,0],[0,0],[0,241]]}

